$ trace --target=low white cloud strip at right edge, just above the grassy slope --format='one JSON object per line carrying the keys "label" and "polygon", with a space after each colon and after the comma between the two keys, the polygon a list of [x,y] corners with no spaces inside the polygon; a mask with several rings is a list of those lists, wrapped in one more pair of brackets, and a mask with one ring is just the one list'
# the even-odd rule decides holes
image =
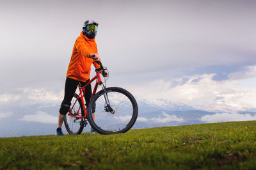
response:
{"label": "low white cloud strip at right edge, just above the grassy slope", "polygon": [[221,121],[248,121],[256,120],[256,114],[239,114],[239,113],[216,113],[216,114],[207,114],[200,118],[201,121],[207,123],[210,122],[221,122]]}

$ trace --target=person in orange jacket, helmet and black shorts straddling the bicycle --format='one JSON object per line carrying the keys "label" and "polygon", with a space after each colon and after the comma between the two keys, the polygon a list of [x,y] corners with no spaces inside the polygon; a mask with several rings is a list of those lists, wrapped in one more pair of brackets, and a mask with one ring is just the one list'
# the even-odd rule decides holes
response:
{"label": "person in orange jacket, helmet and black shorts straddling the bicycle", "polygon": [[[91,65],[95,68],[100,66],[95,63],[99,61],[99,55],[97,50],[97,44],[95,42],[95,36],[97,35],[98,23],[94,20],[86,20],[83,25],[83,31],[80,36],[76,39],[74,44],[72,56],[67,70],[67,79],[65,82],[65,95],[61,103],[58,127],[56,129],[56,135],[63,135],[61,126],[65,119],[65,116],[70,108],[72,97],[76,92],[76,88],[80,83],[84,86],[90,81]],[[102,72],[104,77],[108,76],[107,72]],[[90,102],[92,96],[91,85],[87,86],[84,93],[86,101],[86,107]],[[94,117],[94,116],[93,116]],[[93,129],[91,129],[93,131]]]}

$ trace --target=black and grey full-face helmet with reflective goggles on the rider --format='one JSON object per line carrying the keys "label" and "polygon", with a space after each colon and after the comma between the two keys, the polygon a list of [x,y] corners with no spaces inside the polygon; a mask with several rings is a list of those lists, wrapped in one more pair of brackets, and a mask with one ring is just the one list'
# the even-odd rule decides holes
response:
{"label": "black and grey full-face helmet with reflective goggles on the rider", "polygon": [[98,25],[99,24],[94,20],[86,20],[83,25],[83,34],[86,35],[89,39],[95,38],[95,36],[97,35]]}

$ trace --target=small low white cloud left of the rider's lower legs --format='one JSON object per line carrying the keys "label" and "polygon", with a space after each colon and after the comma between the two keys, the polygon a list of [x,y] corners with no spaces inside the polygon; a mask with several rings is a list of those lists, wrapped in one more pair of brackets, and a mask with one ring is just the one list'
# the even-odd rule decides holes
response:
{"label": "small low white cloud left of the rider's lower legs", "polygon": [[37,111],[36,114],[29,114],[29,115],[23,116],[23,118],[20,118],[19,121],[35,121],[40,123],[57,124],[58,117],[52,116],[47,112]]}

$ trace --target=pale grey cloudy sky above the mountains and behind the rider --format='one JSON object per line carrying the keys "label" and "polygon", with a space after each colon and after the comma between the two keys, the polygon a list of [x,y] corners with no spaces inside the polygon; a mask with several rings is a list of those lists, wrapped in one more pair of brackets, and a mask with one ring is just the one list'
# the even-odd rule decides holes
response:
{"label": "pale grey cloudy sky above the mountains and behind the rider", "polygon": [[137,100],[255,111],[255,8],[250,0],[0,0],[0,105],[59,105],[74,42],[92,19],[107,86]]}

